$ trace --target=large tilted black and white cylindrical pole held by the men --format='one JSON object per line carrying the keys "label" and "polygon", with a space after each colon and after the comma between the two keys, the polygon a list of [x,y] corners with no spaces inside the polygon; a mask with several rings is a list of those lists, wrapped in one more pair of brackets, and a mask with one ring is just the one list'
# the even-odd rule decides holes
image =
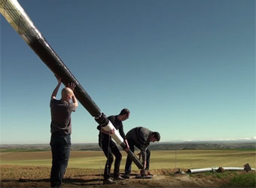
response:
{"label": "large tilted black and white cylindrical pole held by the men", "polygon": [[[24,41],[29,44],[29,47],[35,51],[45,65],[47,65],[57,77],[62,79],[62,83],[65,85],[70,82],[76,84],[74,92],[78,101],[81,102],[81,105],[87,109],[103,129],[108,129],[110,121],[105,117],[105,114],[100,111],[99,107],[93,102],[93,99],[90,98],[83,86],[81,86],[72,72],[69,71],[69,68],[66,67],[52,47],[50,47],[50,44],[47,43],[45,38],[41,35],[41,32],[39,32],[34,23],[32,23],[32,20],[30,20],[19,2],[17,2],[17,0],[0,0],[0,11],[8,23],[10,23]],[[120,139],[119,132],[115,131],[111,137],[120,144],[121,147],[126,147],[123,139]],[[133,162],[135,162],[138,168],[143,168],[142,162],[139,161],[133,152],[128,150],[126,153]]]}

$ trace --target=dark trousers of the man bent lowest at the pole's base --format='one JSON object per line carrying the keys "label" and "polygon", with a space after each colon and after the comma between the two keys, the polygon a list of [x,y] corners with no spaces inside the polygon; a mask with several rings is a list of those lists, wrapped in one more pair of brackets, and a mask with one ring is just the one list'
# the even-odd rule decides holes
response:
{"label": "dark trousers of the man bent lowest at the pole's base", "polygon": [[[133,143],[132,140],[127,139],[127,141],[128,141],[129,146],[130,146],[130,150],[133,151],[133,153],[134,153],[134,146],[136,146],[136,145]],[[138,147],[138,146],[136,146],[136,147]],[[147,170],[149,169],[150,157],[151,157],[151,151],[148,149],[148,150],[146,150],[146,158],[147,158],[146,159],[146,169]],[[125,164],[125,174],[130,174],[131,173],[132,163],[133,163],[132,159],[130,159],[130,157],[127,156],[126,164]],[[144,165],[144,164],[142,164],[142,165]]]}

